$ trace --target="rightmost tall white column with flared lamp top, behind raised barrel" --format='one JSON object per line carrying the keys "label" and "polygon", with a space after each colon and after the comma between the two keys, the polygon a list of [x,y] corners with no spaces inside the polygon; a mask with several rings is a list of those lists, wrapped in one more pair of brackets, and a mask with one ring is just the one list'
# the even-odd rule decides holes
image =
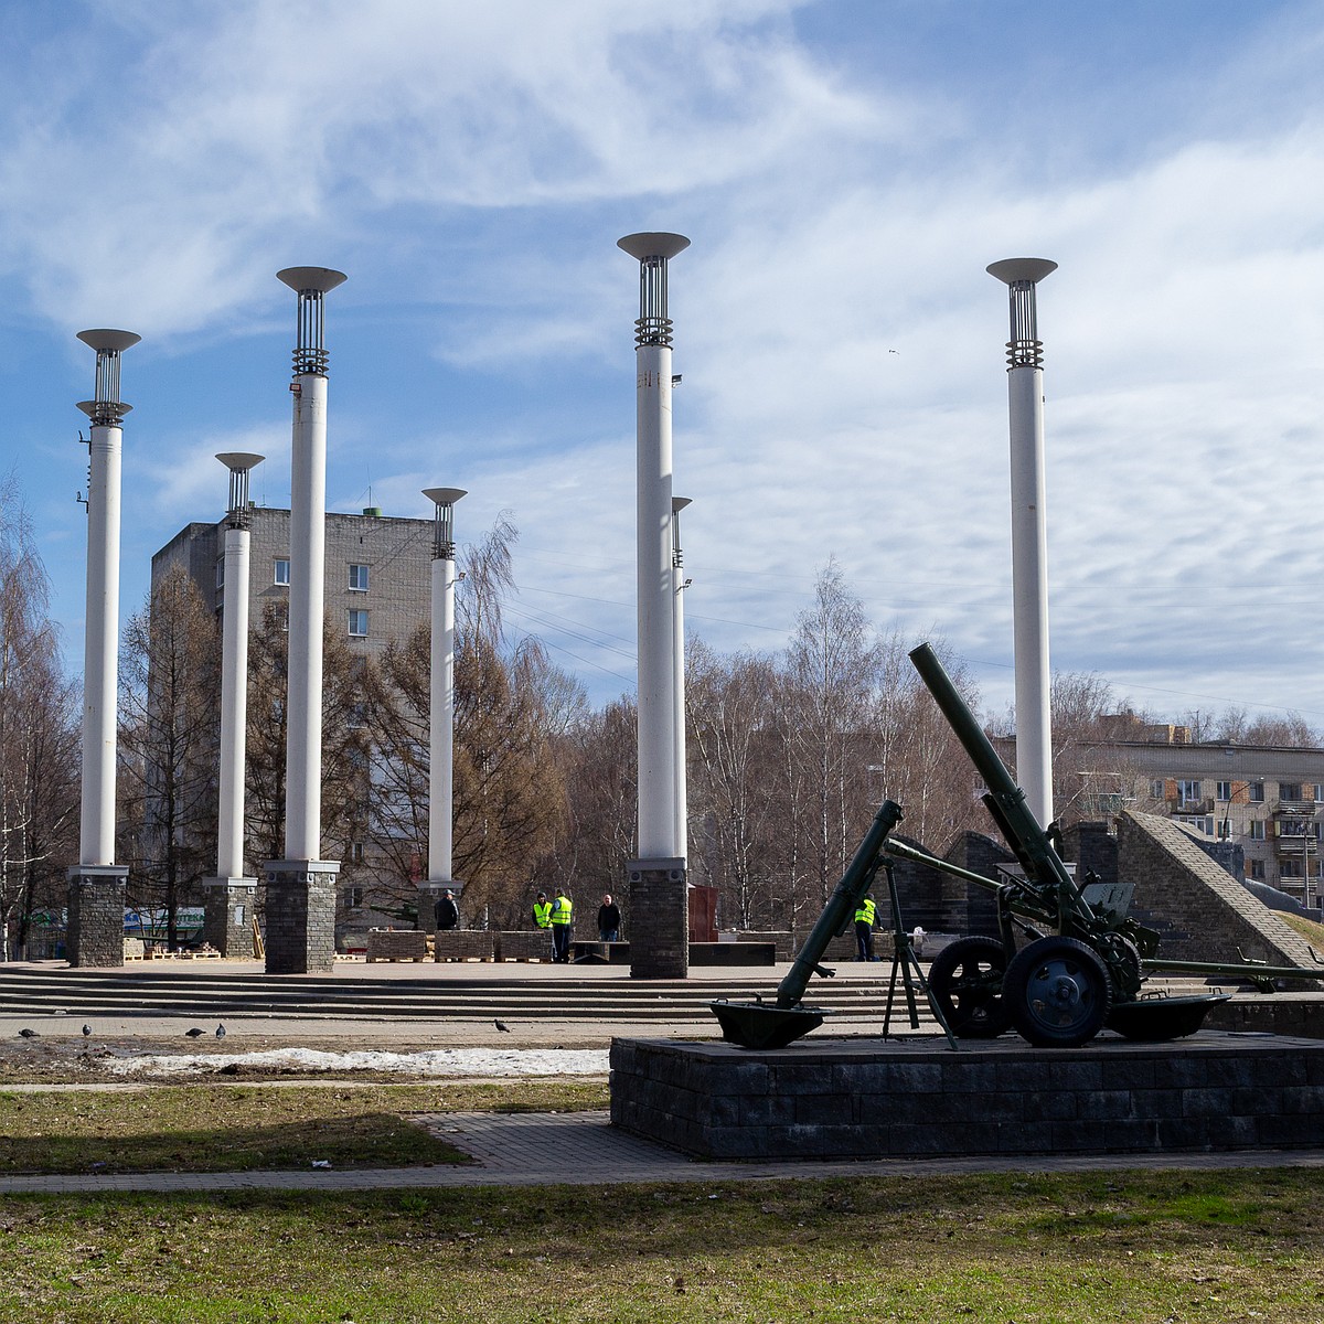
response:
{"label": "rightmost tall white column with flared lamp top, behind raised barrel", "polygon": [[1053,821],[1049,539],[1043,485],[1043,365],[1035,285],[1055,262],[1008,258],[988,267],[1010,295],[1008,404],[1012,437],[1012,606],[1016,776],[1041,828]]}

